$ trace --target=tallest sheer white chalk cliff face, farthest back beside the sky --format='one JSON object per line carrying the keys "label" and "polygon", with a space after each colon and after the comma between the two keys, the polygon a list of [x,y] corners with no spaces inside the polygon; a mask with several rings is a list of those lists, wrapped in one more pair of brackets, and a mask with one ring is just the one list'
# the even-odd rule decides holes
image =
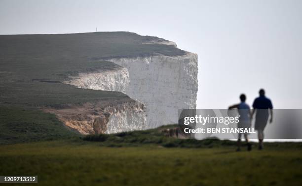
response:
{"label": "tallest sheer white chalk cliff face, farthest back beside the sky", "polygon": [[197,55],[109,59],[128,69],[126,94],[146,105],[147,127],[174,124],[178,109],[195,109]]}

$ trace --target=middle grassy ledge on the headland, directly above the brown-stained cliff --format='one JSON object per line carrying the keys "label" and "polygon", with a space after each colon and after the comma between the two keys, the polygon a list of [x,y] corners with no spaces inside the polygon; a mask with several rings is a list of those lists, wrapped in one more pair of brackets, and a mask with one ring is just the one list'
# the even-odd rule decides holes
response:
{"label": "middle grassy ledge on the headland, directly above the brown-stained cliff", "polygon": [[9,82],[0,84],[3,105],[47,106],[81,104],[94,101],[131,102],[120,92],[78,89],[63,83]]}

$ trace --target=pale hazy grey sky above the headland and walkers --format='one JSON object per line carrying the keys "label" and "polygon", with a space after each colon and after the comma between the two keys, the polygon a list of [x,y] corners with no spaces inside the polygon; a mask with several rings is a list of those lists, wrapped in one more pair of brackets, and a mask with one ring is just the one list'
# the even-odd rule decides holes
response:
{"label": "pale hazy grey sky above the headland and walkers", "polygon": [[131,31],[198,54],[197,108],[302,109],[302,0],[0,0],[0,34]]}

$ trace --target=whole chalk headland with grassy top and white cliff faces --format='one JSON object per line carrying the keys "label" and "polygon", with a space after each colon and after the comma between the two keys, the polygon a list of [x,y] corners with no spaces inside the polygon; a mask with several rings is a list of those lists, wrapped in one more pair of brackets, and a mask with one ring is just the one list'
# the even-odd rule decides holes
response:
{"label": "whole chalk headland with grassy top and white cliff faces", "polygon": [[0,106],[82,134],[177,123],[196,107],[197,55],[131,32],[0,35]]}

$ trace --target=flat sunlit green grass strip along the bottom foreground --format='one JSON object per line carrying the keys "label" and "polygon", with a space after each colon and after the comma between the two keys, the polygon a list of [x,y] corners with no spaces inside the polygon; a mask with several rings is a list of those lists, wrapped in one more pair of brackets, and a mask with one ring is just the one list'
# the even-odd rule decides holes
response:
{"label": "flat sunlit green grass strip along the bottom foreground", "polygon": [[[104,147],[80,139],[0,146],[0,175],[38,175],[43,186],[300,186],[302,145],[265,150]],[[10,184],[12,185],[12,184]]]}

